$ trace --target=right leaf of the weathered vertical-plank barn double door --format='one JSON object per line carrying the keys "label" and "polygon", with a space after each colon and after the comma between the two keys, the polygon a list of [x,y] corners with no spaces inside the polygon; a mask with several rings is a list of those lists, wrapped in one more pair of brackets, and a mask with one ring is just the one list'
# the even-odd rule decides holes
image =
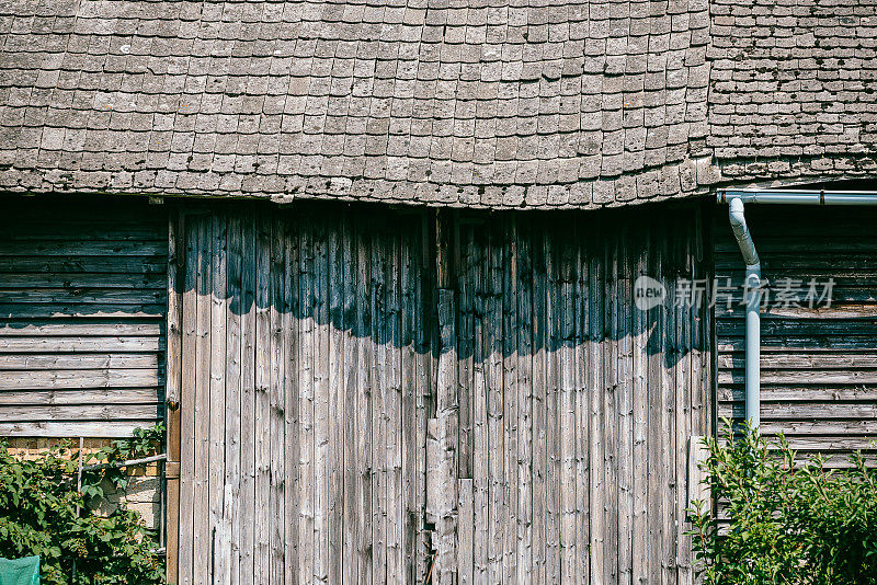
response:
{"label": "right leaf of the weathered vertical-plank barn double door", "polygon": [[[459,505],[456,566],[441,569],[462,583],[690,583],[709,324],[705,306],[674,306],[677,283],[706,277],[697,211],[454,223]],[[634,306],[640,275],[664,284],[664,307]]]}

